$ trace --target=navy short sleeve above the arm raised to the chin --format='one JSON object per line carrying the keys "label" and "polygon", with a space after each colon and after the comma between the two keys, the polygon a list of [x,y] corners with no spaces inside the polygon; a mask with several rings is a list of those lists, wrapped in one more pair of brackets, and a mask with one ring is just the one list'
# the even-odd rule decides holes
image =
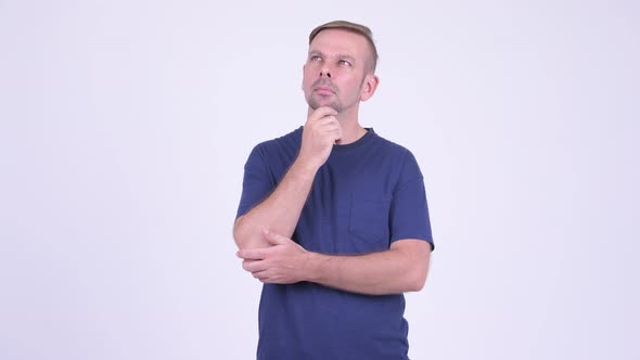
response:
{"label": "navy short sleeve above the arm raised to the chin", "polygon": [[235,218],[241,217],[258,205],[276,187],[260,146],[257,145],[248,155],[244,165],[242,196]]}

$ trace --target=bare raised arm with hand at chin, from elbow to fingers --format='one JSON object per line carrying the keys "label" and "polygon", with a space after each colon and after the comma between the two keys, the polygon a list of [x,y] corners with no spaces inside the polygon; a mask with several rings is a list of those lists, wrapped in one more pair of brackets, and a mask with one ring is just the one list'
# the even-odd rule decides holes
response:
{"label": "bare raised arm with hand at chin, from elbow to fingers", "polygon": [[293,235],[318,168],[327,162],[342,129],[331,107],[319,107],[309,115],[303,131],[298,156],[276,190],[261,203],[239,217],[233,237],[239,248],[268,247],[263,230],[287,237]]}

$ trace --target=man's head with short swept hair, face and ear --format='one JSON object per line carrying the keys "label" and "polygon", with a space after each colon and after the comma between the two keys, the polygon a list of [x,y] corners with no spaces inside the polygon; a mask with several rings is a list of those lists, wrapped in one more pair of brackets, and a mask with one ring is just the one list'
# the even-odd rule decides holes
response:
{"label": "man's head with short swept hair, face and ear", "polygon": [[357,114],[359,102],[373,95],[377,52],[371,30],[349,22],[331,22],[309,35],[303,90],[309,107],[331,106]]}

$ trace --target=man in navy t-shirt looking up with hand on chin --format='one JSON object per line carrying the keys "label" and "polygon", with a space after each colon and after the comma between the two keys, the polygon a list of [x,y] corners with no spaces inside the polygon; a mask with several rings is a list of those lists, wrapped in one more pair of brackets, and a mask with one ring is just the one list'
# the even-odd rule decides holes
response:
{"label": "man in navy t-shirt looking up with hand on chin", "polygon": [[264,283],[258,359],[408,359],[402,293],[423,287],[433,240],[413,155],[358,119],[376,61],[368,27],[313,29],[304,127],[246,162],[233,235]]}

